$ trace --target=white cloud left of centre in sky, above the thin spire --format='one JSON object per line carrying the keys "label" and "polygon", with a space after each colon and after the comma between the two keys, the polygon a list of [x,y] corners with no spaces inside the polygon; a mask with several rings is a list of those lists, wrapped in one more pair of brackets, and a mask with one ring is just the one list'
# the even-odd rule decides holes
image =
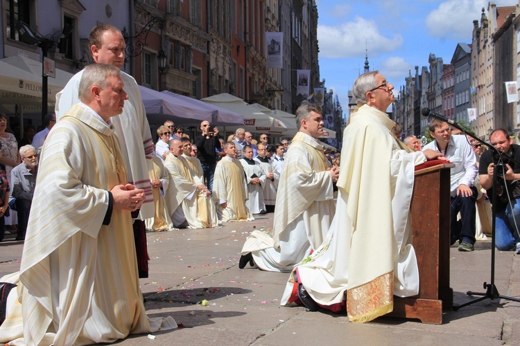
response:
{"label": "white cloud left of centre in sky, above the thin spire", "polygon": [[366,46],[371,55],[394,51],[402,46],[403,37],[384,37],[374,21],[356,17],[340,26],[318,25],[318,44],[323,57],[359,57],[365,55]]}

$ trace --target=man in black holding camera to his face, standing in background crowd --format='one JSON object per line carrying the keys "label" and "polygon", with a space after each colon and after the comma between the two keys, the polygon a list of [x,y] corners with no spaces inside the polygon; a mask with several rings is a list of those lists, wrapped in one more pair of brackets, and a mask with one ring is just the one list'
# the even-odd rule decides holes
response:
{"label": "man in black holding camera to his face, standing in background crowd", "polygon": [[200,130],[202,134],[196,136],[193,140],[193,144],[195,144],[198,149],[197,158],[202,165],[207,188],[209,191],[213,191],[217,151],[221,148],[220,140],[218,140],[218,127],[215,126],[211,128],[208,121],[203,121],[200,123]]}

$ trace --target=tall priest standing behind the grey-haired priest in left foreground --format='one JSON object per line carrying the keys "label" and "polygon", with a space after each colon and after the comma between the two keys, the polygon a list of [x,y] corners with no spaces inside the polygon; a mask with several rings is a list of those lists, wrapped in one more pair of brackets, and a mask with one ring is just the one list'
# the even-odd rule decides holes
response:
{"label": "tall priest standing behind the grey-haired priest in left foreground", "polygon": [[[121,69],[125,62],[125,39],[121,35],[121,30],[115,26],[110,24],[94,26],[90,32],[89,47],[96,63],[111,64]],[[73,104],[80,102],[78,86],[82,74],[83,71],[76,73],[56,95],[55,111],[58,121]],[[153,140],[137,82],[124,72],[121,73],[121,78],[125,83],[128,101],[125,102],[123,113],[112,118],[112,125],[123,152],[128,183],[144,190],[144,202],[139,210],[132,213],[132,217],[135,219],[133,230],[139,277],[148,277],[149,257],[144,220],[153,217],[154,214],[152,186],[148,179],[148,171],[152,169]]]}

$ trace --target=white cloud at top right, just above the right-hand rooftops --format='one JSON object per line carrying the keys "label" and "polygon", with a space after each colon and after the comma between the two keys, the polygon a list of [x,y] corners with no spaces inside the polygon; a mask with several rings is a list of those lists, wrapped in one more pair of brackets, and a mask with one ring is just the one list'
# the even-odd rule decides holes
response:
{"label": "white cloud at top right, just above the right-hand rooftops", "polygon": [[[493,1],[496,6],[514,6],[512,0]],[[426,17],[428,35],[442,39],[471,39],[473,21],[487,13],[489,0],[448,0],[439,5]],[[489,19],[489,17],[488,17]]]}

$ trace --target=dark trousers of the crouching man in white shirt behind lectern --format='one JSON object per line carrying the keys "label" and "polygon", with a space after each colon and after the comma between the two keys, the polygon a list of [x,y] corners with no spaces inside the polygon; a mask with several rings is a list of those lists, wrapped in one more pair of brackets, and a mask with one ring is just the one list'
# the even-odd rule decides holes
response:
{"label": "dark trousers of the crouching man in white shirt behind lectern", "polygon": [[[457,240],[475,244],[475,217],[476,217],[476,199],[478,192],[474,186],[471,186],[473,194],[469,197],[458,195],[451,198],[451,244]],[[457,221],[457,215],[460,212],[460,221]]]}

